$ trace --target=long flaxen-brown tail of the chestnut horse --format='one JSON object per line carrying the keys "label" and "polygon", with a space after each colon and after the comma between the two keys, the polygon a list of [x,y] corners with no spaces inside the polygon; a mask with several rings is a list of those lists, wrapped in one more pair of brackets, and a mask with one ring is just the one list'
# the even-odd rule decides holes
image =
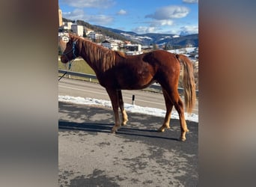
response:
{"label": "long flaxen-brown tail of the chestnut horse", "polygon": [[183,64],[183,88],[186,111],[192,112],[195,105],[195,79],[192,62],[185,55],[176,55],[176,58]]}

